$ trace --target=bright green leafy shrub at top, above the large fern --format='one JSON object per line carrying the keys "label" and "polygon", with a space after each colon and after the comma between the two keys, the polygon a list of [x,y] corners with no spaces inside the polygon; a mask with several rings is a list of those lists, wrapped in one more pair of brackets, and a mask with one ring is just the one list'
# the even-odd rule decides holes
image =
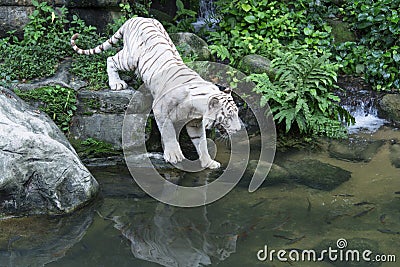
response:
{"label": "bright green leafy shrub at top, above the large fern", "polygon": [[277,46],[294,40],[322,53],[331,44],[331,28],[318,16],[310,15],[313,2],[219,0],[219,29],[209,33],[215,45],[211,51],[229,58],[233,65],[248,54],[269,57]]}

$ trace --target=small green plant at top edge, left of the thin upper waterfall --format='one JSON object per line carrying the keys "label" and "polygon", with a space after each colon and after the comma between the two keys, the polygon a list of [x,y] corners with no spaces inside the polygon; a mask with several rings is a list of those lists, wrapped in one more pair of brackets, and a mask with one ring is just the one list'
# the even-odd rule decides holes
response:
{"label": "small green plant at top edge, left of the thin upper waterfall", "polygon": [[197,12],[186,9],[181,0],[176,0],[176,15],[172,19],[174,23],[166,23],[168,32],[193,32],[193,22],[196,21]]}

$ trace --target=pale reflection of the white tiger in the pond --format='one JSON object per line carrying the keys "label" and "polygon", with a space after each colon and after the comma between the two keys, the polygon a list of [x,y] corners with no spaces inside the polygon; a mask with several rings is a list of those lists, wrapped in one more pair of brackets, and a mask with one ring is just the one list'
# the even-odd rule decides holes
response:
{"label": "pale reflection of the white tiger in the pond", "polygon": [[205,266],[236,252],[239,226],[211,227],[206,206],[185,209],[158,204],[154,216],[136,213],[114,221],[131,242],[136,258],[163,266]]}

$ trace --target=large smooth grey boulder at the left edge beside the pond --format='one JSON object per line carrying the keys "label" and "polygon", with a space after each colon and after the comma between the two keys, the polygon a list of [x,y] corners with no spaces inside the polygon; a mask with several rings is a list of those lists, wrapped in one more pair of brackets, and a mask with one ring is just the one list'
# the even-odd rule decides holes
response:
{"label": "large smooth grey boulder at the left edge beside the pond", "polygon": [[97,194],[54,122],[1,87],[0,121],[0,215],[70,213]]}

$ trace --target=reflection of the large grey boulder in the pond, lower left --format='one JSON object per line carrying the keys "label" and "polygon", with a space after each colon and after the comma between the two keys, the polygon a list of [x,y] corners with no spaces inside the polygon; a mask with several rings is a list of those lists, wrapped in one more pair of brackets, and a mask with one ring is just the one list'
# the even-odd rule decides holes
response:
{"label": "reflection of the large grey boulder in the pond, lower left", "polygon": [[69,216],[0,220],[0,266],[44,266],[65,256],[93,222],[93,207]]}

